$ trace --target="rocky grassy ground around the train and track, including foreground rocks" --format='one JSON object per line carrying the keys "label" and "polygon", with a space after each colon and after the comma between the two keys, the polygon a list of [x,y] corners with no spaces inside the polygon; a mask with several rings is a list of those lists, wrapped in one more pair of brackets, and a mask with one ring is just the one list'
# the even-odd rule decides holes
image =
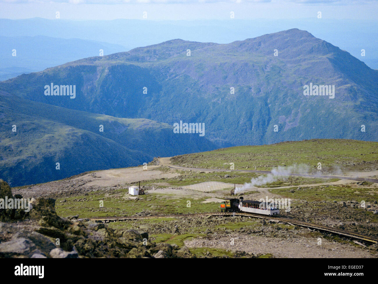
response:
{"label": "rocky grassy ground around the train and track, including foreground rocks", "polygon": [[[169,160],[169,158],[167,158]],[[160,165],[159,161],[162,165]],[[243,182],[237,173],[169,169],[155,159],[143,167],[87,172],[60,181],[9,188],[0,198],[31,199],[32,209],[0,210],[0,257],[47,258],[377,258],[378,246],[272,220],[241,216],[140,219],[106,224],[91,217],[217,212],[211,198],[229,189],[200,190],[208,181]],[[371,176],[361,172],[359,176]],[[246,176],[246,179],[254,174]],[[143,180],[145,195],[127,187]],[[378,237],[378,195],[371,182],[288,178],[241,193],[245,200],[290,198],[285,218]],[[327,180],[325,180],[327,181]],[[277,186],[281,185],[281,186]],[[207,186],[206,186],[207,187]],[[36,198],[43,196],[44,198]],[[34,197],[34,198],[33,198]],[[104,202],[104,206],[99,206]],[[191,206],[187,202],[191,201]],[[59,215],[59,216],[58,216]],[[320,241],[320,244],[319,244]]]}

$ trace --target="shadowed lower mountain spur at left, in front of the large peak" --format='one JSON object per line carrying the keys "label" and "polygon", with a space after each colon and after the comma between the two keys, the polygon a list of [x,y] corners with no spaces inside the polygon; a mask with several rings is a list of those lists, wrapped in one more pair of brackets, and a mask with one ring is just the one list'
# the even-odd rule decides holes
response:
{"label": "shadowed lower mountain spur at left, in front of the large peak", "polygon": [[170,125],[148,119],[85,113],[4,93],[0,93],[0,109],[0,177],[12,186],[215,148],[199,136],[177,135]]}

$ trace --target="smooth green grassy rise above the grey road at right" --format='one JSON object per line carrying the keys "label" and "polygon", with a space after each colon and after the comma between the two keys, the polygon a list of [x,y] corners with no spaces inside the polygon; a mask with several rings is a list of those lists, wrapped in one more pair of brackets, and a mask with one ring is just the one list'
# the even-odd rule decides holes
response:
{"label": "smooth green grassy rise above the grey road at right", "polygon": [[239,146],[222,148],[171,158],[171,164],[182,167],[271,170],[277,166],[305,164],[310,172],[338,173],[345,170],[376,170],[378,165],[378,142],[350,139],[311,139],[280,142],[262,146]]}

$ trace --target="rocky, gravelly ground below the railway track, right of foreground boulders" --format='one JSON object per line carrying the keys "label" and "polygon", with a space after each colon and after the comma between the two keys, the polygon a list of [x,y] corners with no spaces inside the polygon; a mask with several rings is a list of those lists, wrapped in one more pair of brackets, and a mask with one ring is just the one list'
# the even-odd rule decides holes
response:
{"label": "rocky, gravelly ground below the railway track, right of foreground boulders", "polygon": [[[150,213],[144,211],[139,215],[148,216]],[[152,236],[173,235],[172,241],[181,242],[189,250],[223,249],[238,257],[378,258],[378,245],[364,247],[360,242],[274,220],[213,216],[175,218],[154,224],[141,224],[140,220],[125,223],[146,230]]]}

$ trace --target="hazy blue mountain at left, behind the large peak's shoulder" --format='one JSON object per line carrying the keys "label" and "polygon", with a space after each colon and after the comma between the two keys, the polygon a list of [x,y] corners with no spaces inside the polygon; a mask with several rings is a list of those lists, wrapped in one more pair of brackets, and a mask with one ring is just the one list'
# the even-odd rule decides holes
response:
{"label": "hazy blue mountain at left, behind the large peak's shoulder", "polygon": [[[12,56],[14,49],[15,56]],[[100,49],[105,55],[127,50],[121,45],[82,39],[42,35],[0,36],[0,81],[84,57],[98,56]]]}

